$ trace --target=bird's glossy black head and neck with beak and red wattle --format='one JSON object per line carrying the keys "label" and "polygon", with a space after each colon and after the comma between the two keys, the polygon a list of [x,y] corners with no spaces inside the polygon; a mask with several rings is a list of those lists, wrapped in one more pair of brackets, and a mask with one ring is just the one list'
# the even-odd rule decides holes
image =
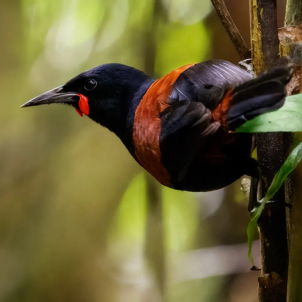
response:
{"label": "bird's glossy black head and neck with beak and red wattle", "polygon": [[154,78],[133,67],[103,64],[82,72],[66,84],[31,99],[21,107],[68,104],[81,116],[86,114],[123,140],[125,131],[133,125],[134,112],[141,97],[154,81]]}

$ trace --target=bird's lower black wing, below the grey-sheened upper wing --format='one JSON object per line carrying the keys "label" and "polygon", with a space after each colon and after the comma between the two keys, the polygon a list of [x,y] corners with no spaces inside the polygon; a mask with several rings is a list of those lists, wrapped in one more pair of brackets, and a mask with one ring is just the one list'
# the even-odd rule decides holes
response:
{"label": "bird's lower black wing, below the grey-sheened upper wing", "polygon": [[177,102],[160,114],[162,163],[172,183],[183,180],[200,146],[219,129],[220,123],[211,122],[211,118],[210,109],[190,100]]}

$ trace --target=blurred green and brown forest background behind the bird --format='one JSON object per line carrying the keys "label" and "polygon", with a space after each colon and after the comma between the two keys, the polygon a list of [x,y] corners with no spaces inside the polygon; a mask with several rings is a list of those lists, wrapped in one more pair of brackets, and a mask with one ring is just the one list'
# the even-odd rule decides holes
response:
{"label": "blurred green and brown forest background behind the bird", "polygon": [[[248,1],[225,2],[249,45]],[[237,63],[210,0],[0,4],[0,301],[256,301],[240,181],[174,191],[70,107],[19,108],[103,63]]]}

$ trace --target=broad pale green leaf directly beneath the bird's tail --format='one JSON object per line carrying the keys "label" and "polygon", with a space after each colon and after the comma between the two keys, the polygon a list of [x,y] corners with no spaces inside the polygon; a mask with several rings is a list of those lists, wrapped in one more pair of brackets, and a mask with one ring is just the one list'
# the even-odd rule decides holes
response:
{"label": "broad pale green leaf directly beneath the bird's tail", "polygon": [[261,114],[236,129],[236,132],[276,131],[302,131],[302,93],[285,98],[280,109]]}

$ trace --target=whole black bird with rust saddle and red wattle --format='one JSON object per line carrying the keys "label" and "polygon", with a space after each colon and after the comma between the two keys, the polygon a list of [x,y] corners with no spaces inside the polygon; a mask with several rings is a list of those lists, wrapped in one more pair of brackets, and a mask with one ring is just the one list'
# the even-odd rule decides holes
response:
{"label": "whole black bird with rust saddle and red wattle", "polygon": [[21,107],[62,103],[117,135],[162,185],[207,192],[243,175],[259,177],[253,134],[235,132],[284,104],[291,66],[258,78],[225,60],[187,64],[156,79],[119,64],[102,64]]}

